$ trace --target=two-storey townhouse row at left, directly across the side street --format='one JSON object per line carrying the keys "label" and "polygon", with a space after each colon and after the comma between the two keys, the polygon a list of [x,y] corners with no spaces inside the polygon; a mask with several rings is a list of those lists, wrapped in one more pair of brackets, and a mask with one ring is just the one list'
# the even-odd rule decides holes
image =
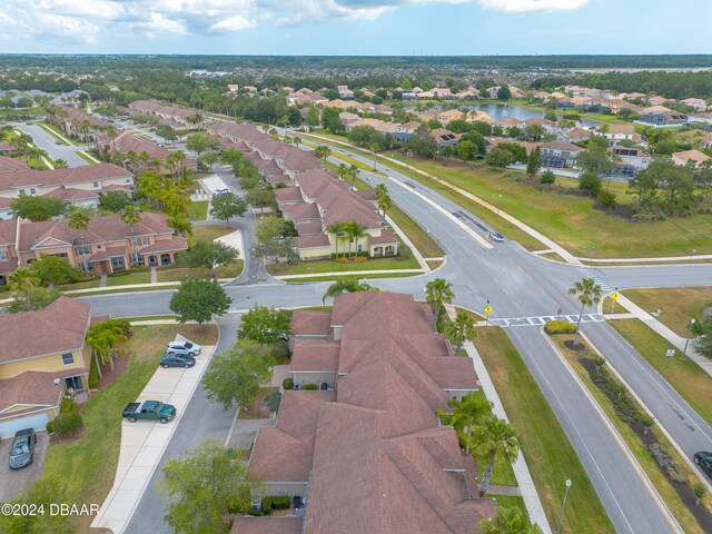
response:
{"label": "two-storey townhouse row at left, directly across the side street", "polygon": [[118,215],[95,217],[83,231],[69,228],[67,219],[0,220],[0,285],[16,267],[43,255],[59,256],[88,273],[110,275],[131,265],[170,265],[187,248],[184,238],[174,237],[162,214],[144,212],[132,227]]}

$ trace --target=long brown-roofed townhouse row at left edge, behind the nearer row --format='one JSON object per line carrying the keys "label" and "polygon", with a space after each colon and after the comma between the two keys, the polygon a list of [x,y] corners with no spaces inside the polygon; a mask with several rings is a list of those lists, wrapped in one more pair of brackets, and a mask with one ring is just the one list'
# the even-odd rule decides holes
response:
{"label": "long brown-roofed townhouse row at left edge, behind the nearer row", "polygon": [[0,219],[10,218],[10,201],[20,195],[50,196],[78,206],[98,206],[99,197],[134,190],[134,175],[116,165],[85,165],[55,170],[16,170],[0,174]]}

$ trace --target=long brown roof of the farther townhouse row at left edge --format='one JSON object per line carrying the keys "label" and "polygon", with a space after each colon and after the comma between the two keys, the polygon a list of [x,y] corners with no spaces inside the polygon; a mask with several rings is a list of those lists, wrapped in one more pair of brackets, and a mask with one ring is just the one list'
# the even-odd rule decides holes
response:
{"label": "long brown roof of the farther townhouse row at left edge", "polygon": [[0,191],[27,186],[79,184],[132,176],[128,170],[112,164],[82,165],[55,170],[18,170],[0,175]]}

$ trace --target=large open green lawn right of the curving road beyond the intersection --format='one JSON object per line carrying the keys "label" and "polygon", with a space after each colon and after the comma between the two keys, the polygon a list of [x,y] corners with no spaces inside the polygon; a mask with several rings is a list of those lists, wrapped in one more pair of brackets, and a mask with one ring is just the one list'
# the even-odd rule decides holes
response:
{"label": "large open green lawn right of the curving road beyond the intersection", "polygon": [[[317,134],[344,140],[320,131]],[[359,149],[349,150],[368,155]],[[690,254],[692,249],[696,249],[696,254],[712,254],[712,240],[709,239],[712,234],[712,217],[709,215],[633,224],[594,210],[592,199],[538,191],[531,186],[505,178],[505,174],[512,172],[510,170],[468,169],[459,165],[445,167],[436,161],[406,158],[395,151],[386,154],[444,180],[438,182],[396,166],[404,175],[457,201],[497,231],[520,241],[530,250],[541,249],[542,244],[495,212],[452,190],[449,186],[459,187],[497,206],[581,257],[589,257],[592,245],[596,247],[596,258],[630,257],[632,254],[639,257],[675,256]],[[393,166],[390,162],[387,165]],[[615,192],[622,192],[622,185],[612,182],[611,188]],[[622,198],[623,204],[626,198],[626,195]]]}

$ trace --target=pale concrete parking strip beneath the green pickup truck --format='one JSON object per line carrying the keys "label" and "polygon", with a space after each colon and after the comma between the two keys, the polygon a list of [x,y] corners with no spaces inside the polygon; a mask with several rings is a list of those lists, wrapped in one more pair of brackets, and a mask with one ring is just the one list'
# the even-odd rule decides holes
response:
{"label": "pale concrete parking strip beneath the green pickup truck", "polygon": [[[176,339],[180,338],[176,336]],[[121,534],[129,524],[214,352],[215,346],[202,347],[196,357],[196,365],[188,369],[159,367],[146,385],[138,400],[172,404],[176,406],[176,418],[165,425],[160,422],[129,423],[123,419],[113,486],[91,523],[93,528],[110,528],[113,534]]]}

